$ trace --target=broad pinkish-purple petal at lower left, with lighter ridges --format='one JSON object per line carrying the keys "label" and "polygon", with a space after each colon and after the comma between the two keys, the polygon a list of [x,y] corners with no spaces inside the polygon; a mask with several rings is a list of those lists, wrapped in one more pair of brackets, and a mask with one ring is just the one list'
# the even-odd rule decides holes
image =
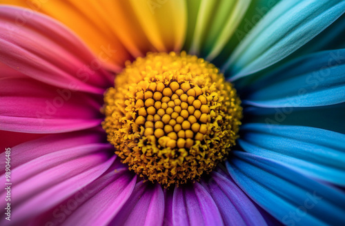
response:
{"label": "broad pinkish-purple petal at lower left, with lighter ridges", "polygon": [[[79,146],[16,167],[11,171],[17,175],[12,177],[15,195],[11,204],[16,208],[12,209],[11,223],[34,218],[94,181],[114,162],[115,156],[109,157],[111,150],[106,144]],[[0,201],[1,206],[4,202]]]}

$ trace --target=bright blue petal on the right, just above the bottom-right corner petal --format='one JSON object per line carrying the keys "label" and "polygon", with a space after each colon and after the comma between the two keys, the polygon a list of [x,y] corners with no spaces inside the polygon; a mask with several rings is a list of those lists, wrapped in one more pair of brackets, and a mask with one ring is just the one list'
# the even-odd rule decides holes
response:
{"label": "bright blue petal on the right, just above the bottom-right corner petal", "polygon": [[345,185],[345,134],[313,127],[246,124],[239,145],[314,178]]}

